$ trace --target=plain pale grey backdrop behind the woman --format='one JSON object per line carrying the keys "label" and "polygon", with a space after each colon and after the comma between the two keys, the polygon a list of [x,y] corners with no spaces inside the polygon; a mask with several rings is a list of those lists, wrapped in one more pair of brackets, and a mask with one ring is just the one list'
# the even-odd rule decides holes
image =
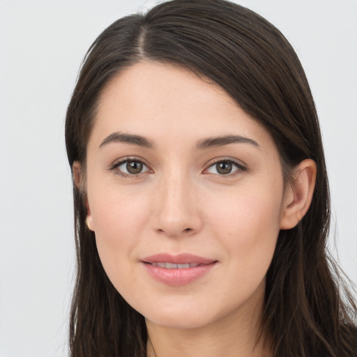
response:
{"label": "plain pale grey backdrop behind the woman", "polygon": [[[357,282],[357,1],[236,1],[298,52],[317,104],[333,238]],[[0,0],[0,356],[67,356],[72,185],[64,117],[84,53],[155,1]]]}

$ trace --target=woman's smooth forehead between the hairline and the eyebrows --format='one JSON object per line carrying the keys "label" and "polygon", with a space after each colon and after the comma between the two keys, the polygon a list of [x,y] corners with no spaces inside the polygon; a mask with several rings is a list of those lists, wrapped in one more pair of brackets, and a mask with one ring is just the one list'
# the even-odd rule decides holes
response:
{"label": "woman's smooth forehead between the hairline and the eyebrows", "polygon": [[152,61],[121,71],[101,93],[91,139],[121,131],[153,141],[231,134],[271,139],[218,84]]}

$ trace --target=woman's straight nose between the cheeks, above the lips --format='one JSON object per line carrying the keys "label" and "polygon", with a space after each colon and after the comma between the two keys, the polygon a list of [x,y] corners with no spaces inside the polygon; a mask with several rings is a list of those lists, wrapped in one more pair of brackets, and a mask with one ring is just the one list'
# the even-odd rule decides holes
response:
{"label": "woman's straight nose between the cheeks, above the lips", "polygon": [[202,228],[197,188],[184,174],[173,172],[162,178],[153,204],[153,229],[160,234],[177,238],[191,236]]}

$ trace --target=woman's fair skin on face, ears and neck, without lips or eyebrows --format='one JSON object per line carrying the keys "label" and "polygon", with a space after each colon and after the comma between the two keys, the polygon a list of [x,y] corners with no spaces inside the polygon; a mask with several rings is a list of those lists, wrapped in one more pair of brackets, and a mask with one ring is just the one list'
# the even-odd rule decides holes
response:
{"label": "woman's fair skin on face, ears and neck, without lips or eyebrows", "polygon": [[[146,137],[153,147],[112,141]],[[197,148],[211,137],[252,142]],[[219,86],[185,69],[137,63],[102,92],[86,152],[89,228],[114,287],[146,318],[148,356],[269,356],[257,339],[265,275],[280,229],[310,205],[316,169],[305,160],[284,189],[269,132]],[[144,162],[128,175],[126,162]],[[231,160],[222,174],[217,162]],[[116,165],[116,167],[114,167]],[[123,175],[124,174],[124,175]],[[85,179],[84,179],[85,177]],[[170,286],[142,263],[158,253],[217,263],[202,278]]]}

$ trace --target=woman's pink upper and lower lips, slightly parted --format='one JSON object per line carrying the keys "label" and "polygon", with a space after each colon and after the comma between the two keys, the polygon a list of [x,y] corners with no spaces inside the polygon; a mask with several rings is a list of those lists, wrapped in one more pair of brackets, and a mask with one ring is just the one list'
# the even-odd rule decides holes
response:
{"label": "woman's pink upper and lower lips, slightly parted", "polygon": [[[208,274],[211,269],[218,263],[215,259],[208,259],[183,253],[180,255],[170,255],[167,253],[160,253],[151,255],[141,260],[146,271],[159,282],[172,286],[181,286],[190,284],[199,280]],[[152,263],[172,263],[172,264],[199,264],[190,268],[162,268],[160,266],[153,266]]]}

